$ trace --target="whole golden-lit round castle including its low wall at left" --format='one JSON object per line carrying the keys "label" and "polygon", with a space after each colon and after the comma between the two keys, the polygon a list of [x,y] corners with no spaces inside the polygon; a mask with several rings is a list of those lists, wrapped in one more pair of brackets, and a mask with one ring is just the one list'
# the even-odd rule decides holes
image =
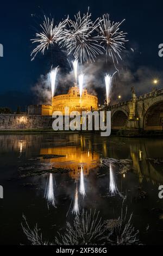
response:
{"label": "whole golden-lit round castle including its low wall at left", "polygon": [[36,115],[52,115],[54,111],[65,113],[65,107],[69,107],[70,112],[91,111],[98,108],[98,98],[87,93],[87,89],[83,89],[82,100],[80,99],[79,88],[74,85],[68,90],[67,94],[54,96],[52,105],[30,105],[28,106],[28,114]]}

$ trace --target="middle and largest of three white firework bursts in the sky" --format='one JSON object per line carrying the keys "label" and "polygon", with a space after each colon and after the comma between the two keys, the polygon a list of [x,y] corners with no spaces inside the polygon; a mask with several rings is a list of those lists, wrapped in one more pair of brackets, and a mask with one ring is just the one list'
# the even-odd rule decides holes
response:
{"label": "middle and largest of three white firework bursts in the sky", "polygon": [[98,19],[91,20],[89,9],[81,16],[80,12],[74,16],[75,20],[67,20],[68,28],[64,29],[65,36],[62,44],[67,48],[68,55],[71,53],[80,62],[95,62],[99,54],[103,54],[102,46],[98,43],[99,36],[96,35]]}

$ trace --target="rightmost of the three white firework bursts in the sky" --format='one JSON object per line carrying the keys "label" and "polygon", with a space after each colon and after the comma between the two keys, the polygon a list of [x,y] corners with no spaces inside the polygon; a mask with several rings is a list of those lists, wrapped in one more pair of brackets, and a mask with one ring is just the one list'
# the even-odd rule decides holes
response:
{"label": "rightmost of the three white firework bursts in the sky", "polygon": [[[124,20],[123,20],[124,21]],[[99,33],[101,36],[101,45],[105,48],[106,56],[111,57],[112,62],[118,63],[118,58],[121,58],[121,51],[125,48],[124,44],[126,40],[126,34],[120,31],[122,22],[110,21],[109,14],[104,14],[103,19],[99,20]]]}

